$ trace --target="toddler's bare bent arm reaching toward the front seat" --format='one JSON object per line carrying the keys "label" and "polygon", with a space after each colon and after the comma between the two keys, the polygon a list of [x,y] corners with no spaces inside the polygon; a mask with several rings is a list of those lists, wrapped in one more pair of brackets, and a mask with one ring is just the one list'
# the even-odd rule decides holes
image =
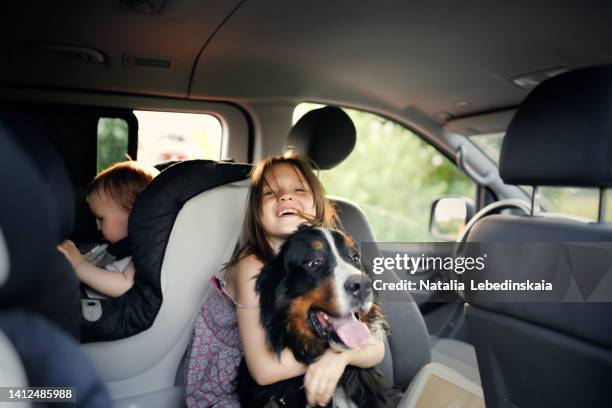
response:
{"label": "toddler's bare bent arm reaching toward the front seat", "polygon": [[72,264],[79,280],[105,296],[121,296],[134,285],[135,269],[132,261],[123,272],[113,272],[86,262],[70,240],[61,243],[58,249]]}

